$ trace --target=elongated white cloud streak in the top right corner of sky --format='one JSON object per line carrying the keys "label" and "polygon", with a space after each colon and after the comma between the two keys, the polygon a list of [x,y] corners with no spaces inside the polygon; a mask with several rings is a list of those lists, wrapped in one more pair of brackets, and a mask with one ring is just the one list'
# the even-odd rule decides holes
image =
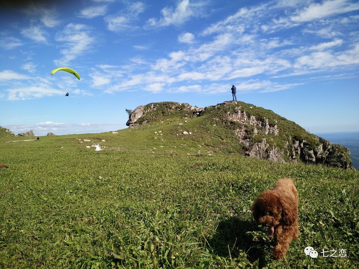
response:
{"label": "elongated white cloud streak in the top right corner of sky", "polygon": [[329,0],[322,3],[312,3],[300,10],[298,15],[292,16],[294,22],[309,22],[322,19],[331,15],[343,14],[359,10],[359,3],[351,3],[347,0]]}

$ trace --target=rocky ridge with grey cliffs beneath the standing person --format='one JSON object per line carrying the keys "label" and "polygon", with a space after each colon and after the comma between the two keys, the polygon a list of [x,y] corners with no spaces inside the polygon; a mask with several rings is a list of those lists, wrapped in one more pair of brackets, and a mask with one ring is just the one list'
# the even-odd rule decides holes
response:
{"label": "rocky ridge with grey cliffs beneath the standing person", "polygon": [[203,124],[229,129],[236,136],[236,143],[242,146],[242,152],[252,158],[354,169],[348,148],[310,134],[271,110],[243,102],[224,102],[206,108],[186,103],[151,103],[137,107],[126,125],[135,128],[176,115],[187,121],[201,117]]}

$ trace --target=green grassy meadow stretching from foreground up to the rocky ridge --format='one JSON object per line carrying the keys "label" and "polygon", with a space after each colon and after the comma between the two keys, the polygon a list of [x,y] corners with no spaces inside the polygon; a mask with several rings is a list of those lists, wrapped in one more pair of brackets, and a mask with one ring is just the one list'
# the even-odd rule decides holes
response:
{"label": "green grassy meadow stretching from foreground up to the rocky ridge", "polygon": [[[177,123],[0,138],[0,268],[359,267],[357,171],[250,159],[228,130]],[[250,208],[284,176],[300,237],[275,261]],[[312,259],[306,246],[347,256]]]}

